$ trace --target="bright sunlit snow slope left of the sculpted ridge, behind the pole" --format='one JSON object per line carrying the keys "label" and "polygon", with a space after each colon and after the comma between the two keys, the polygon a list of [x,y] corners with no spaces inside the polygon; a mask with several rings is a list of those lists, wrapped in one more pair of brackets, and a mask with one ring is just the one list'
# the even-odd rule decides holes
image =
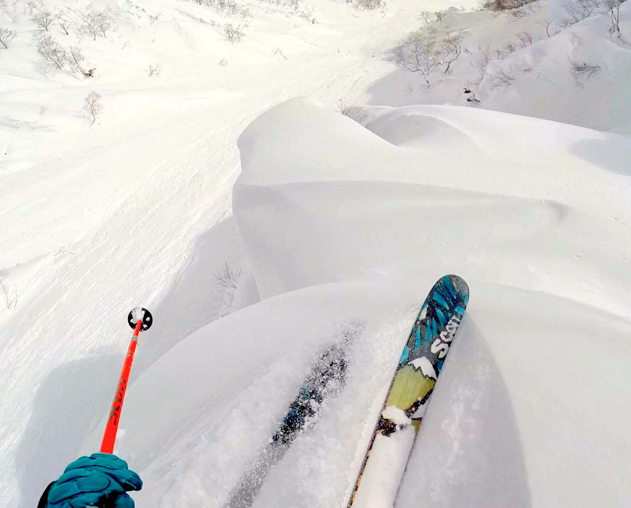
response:
{"label": "bright sunlit snow slope left of the sculpted ridge, behind the pole", "polygon": [[[43,4],[77,21],[89,5]],[[246,125],[291,96],[352,98],[389,68],[364,56],[366,42],[385,49],[416,24],[413,1],[385,16],[320,1],[315,24],[261,3],[231,45],[210,22],[232,18],[192,3],[91,5],[109,5],[117,30],[79,41],[51,28],[96,67],[87,80],[45,69],[28,6],[0,10],[18,32],[0,59],[2,505],[32,506],[98,425],[128,308],[161,315],[134,375],[224,312],[214,272],[239,252],[234,228],[211,228],[229,214]],[[90,91],[104,107],[93,127]]]}

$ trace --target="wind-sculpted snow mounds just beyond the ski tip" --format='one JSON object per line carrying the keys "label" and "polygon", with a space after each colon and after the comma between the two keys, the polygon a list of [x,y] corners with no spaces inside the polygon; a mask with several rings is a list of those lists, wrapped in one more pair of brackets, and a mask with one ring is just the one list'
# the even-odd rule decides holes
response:
{"label": "wind-sculpted snow mounds just beyond the ski tip", "polygon": [[[572,153],[577,143],[598,139],[610,160],[622,163],[631,156],[628,144],[490,111],[380,112],[370,125],[376,137],[295,99],[239,139],[234,217],[263,298],[326,282],[409,277],[422,268],[434,279],[456,272],[580,294],[628,313],[630,180]],[[473,142],[453,146],[458,136],[438,139],[424,120]],[[414,151],[385,143],[401,132],[416,138]]]}

